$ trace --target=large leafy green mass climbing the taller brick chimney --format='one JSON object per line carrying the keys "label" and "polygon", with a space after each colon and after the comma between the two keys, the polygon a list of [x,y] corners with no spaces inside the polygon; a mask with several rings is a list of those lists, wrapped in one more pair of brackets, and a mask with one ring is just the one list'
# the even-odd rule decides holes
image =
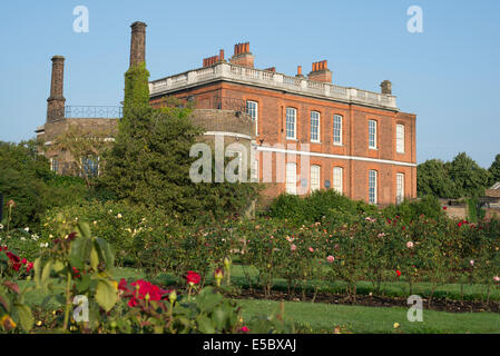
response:
{"label": "large leafy green mass climbing the taller brick chimney", "polygon": [[255,197],[252,185],[194,184],[189,149],[200,128],[189,120],[190,109],[149,106],[148,71],[144,63],[126,76],[124,118],[100,179],[120,199],[161,208],[183,219],[239,210]]}

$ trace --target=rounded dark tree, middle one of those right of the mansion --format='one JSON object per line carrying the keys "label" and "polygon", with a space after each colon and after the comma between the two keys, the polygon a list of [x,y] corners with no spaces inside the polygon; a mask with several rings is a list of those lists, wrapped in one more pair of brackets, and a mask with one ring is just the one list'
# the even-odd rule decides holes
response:
{"label": "rounded dark tree, middle one of those right of the mansion", "polygon": [[484,194],[489,182],[488,170],[470,158],[465,152],[459,154],[450,164],[448,175],[454,182],[459,197],[478,197]]}

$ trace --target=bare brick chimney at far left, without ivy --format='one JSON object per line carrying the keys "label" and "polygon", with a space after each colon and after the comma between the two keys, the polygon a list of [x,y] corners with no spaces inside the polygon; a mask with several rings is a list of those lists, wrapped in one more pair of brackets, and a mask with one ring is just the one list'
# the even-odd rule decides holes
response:
{"label": "bare brick chimney at far left, without ivy", "polygon": [[62,96],[65,82],[65,57],[52,57],[52,78],[50,80],[50,97],[47,99],[47,122],[65,118],[66,99]]}

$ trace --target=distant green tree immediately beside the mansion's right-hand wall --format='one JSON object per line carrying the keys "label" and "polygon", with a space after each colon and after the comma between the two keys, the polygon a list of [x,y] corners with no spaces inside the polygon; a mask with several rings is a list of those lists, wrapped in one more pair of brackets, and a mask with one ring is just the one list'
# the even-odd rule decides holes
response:
{"label": "distant green tree immediately beside the mansion's right-hand wall", "polygon": [[440,198],[455,198],[453,180],[448,176],[442,160],[430,159],[416,168],[416,191],[419,197],[432,195]]}

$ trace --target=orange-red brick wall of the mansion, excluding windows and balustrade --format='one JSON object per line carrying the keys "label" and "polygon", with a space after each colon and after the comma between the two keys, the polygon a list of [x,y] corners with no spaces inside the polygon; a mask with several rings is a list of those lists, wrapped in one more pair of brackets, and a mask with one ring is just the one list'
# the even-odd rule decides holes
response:
{"label": "orange-red brick wall of the mansion, excluding windows and balustrade", "polygon": [[[256,101],[258,103],[257,145],[273,146],[275,144],[311,144],[311,151],[320,155],[354,156],[374,160],[416,164],[415,115],[383,110],[378,108],[335,102],[326,99],[292,95],[277,90],[257,88],[247,85],[216,82],[203,87],[182,90],[175,93],[178,98],[192,96],[199,107],[209,106],[214,97],[232,98],[234,100]],[[151,105],[160,102],[160,98],[151,98]],[[297,110],[296,140],[286,139],[286,107]],[[311,111],[320,112],[321,144],[312,144]],[[333,116],[343,117],[342,146],[333,145]],[[369,120],[378,122],[378,148],[369,149]],[[404,125],[404,152],[395,149],[395,127]],[[343,191],[353,199],[367,201],[367,175],[370,169],[378,171],[378,202],[380,205],[396,201],[396,174],[404,174],[405,198],[416,198],[416,167],[380,161],[363,161],[331,157],[311,157],[311,165],[321,166],[321,185],[325,180],[332,182],[333,167],[342,167]],[[297,174],[301,164],[297,158]],[[308,169],[308,168],[307,168]],[[273,170],[275,159],[273,158]],[[263,177],[262,159],[259,159],[259,177]],[[272,174],[275,181],[275,171]],[[269,186],[264,195],[269,197],[283,192],[284,184]]]}

